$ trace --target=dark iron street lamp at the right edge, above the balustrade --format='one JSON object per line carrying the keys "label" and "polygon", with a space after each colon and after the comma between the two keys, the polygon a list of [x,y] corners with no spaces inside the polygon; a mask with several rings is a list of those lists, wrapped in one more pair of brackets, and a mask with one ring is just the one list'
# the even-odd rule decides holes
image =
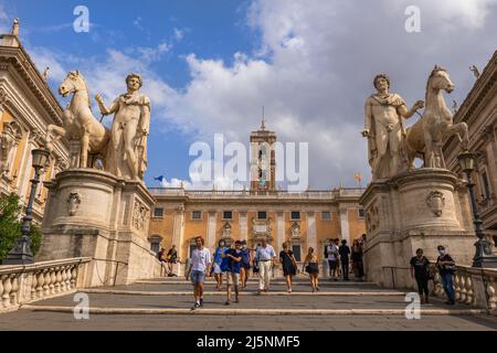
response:
{"label": "dark iron street lamp at the right edge, above the balustrade", "polygon": [[491,267],[497,268],[497,256],[491,252],[491,243],[485,239],[482,225],[483,221],[478,212],[475,196],[475,183],[473,182],[473,172],[476,169],[475,153],[464,151],[457,157],[461,169],[466,173],[467,188],[469,189],[469,197],[472,201],[473,223],[475,224],[475,233],[478,237],[478,242],[475,243],[476,253],[473,258],[473,267]]}

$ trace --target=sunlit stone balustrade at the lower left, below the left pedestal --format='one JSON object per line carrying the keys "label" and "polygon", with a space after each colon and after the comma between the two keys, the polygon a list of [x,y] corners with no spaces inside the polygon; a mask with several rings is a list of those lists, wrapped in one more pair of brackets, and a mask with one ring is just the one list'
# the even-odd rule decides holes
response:
{"label": "sunlit stone balustrade at the lower left, below the left pedestal", "polygon": [[0,266],[0,313],[21,304],[76,292],[91,258],[72,258],[28,266]]}

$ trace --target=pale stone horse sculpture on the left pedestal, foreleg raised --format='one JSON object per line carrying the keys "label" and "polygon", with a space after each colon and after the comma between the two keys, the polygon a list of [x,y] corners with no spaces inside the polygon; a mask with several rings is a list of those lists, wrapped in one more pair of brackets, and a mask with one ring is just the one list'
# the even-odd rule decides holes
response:
{"label": "pale stone horse sculpture on the left pedestal, foreleg raised", "polygon": [[[64,110],[63,127],[51,125],[47,128],[45,146],[53,149],[53,142],[65,136],[70,140],[81,141],[81,154],[76,168],[91,168],[97,158],[104,158],[109,140],[109,131],[93,115],[91,109],[89,92],[83,75],[78,71],[72,71],[59,87],[59,94],[73,98]],[[55,137],[52,137],[54,132]],[[88,160],[88,156],[91,159]]]}

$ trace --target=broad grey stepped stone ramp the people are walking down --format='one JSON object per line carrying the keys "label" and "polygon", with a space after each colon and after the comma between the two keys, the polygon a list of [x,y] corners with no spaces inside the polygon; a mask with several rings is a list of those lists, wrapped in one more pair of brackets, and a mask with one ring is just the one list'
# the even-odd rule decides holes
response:
{"label": "broad grey stepped stone ramp the people are walking down", "polygon": [[[239,304],[230,309],[400,309],[406,306],[404,296],[393,290],[379,289],[370,284],[331,282],[322,280],[321,295],[311,296],[304,279],[296,281],[294,293],[285,292],[278,280],[272,284],[271,296],[254,296],[256,281],[251,281]],[[99,288],[99,290],[155,292],[152,296],[137,293],[89,293],[91,308],[127,309],[189,309],[192,304],[191,287],[182,279],[136,284],[126,287]],[[225,310],[223,292],[215,292],[213,282],[207,285],[205,309]],[[82,290],[84,292],[84,290]],[[160,292],[175,292],[160,296]],[[353,292],[355,296],[349,296]],[[358,296],[360,293],[360,296]],[[73,308],[74,295],[47,299],[33,306]],[[441,300],[433,299],[423,309],[447,309]],[[468,309],[457,304],[450,310]],[[202,309],[200,309],[202,310]],[[0,330],[192,330],[192,331],[334,331],[334,330],[434,330],[434,331],[487,331],[497,330],[497,318],[490,315],[431,314],[420,320],[408,320],[403,315],[191,315],[191,314],[91,314],[88,320],[76,320],[72,313],[32,311],[21,309],[0,314]]]}

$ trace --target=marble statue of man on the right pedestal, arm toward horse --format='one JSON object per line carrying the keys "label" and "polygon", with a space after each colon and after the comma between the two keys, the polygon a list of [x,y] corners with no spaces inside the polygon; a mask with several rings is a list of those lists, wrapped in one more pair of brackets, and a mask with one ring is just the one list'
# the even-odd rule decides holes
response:
{"label": "marble statue of man on the right pedestal, arm toward horse", "polygon": [[376,76],[373,83],[378,92],[366,101],[366,128],[362,136],[368,138],[372,180],[377,181],[392,178],[406,169],[402,150],[404,119],[423,108],[424,101],[416,101],[408,110],[404,99],[389,92],[390,78],[385,74]]}

